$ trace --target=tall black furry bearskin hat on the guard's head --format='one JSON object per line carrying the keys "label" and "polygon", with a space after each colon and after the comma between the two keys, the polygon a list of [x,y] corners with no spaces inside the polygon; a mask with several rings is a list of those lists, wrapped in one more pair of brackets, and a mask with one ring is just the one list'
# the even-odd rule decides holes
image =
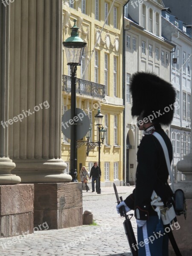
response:
{"label": "tall black furry bearskin hat on the guard's head", "polygon": [[154,73],[137,72],[131,78],[132,116],[150,116],[151,122],[169,125],[172,122],[175,89]]}

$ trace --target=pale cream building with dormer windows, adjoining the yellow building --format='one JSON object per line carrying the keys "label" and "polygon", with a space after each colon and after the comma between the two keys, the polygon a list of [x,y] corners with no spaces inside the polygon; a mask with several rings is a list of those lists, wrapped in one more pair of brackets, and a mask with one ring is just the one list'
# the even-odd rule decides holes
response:
{"label": "pale cream building with dormer windows, adjoining the yellow building", "polygon": [[[125,9],[125,180],[134,185],[137,169],[137,147],[142,139],[136,120],[131,117],[129,83],[137,71],[156,73],[170,81],[170,56],[175,47],[162,36],[161,0],[128,3]],[[128,11],[128,12],[127,12]],[[169,128],[165,128],[169,131]]]}

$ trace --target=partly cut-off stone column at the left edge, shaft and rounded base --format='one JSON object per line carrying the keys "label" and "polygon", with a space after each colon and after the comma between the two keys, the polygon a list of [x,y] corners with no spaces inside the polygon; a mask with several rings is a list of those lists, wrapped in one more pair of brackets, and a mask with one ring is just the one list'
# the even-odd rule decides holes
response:
{"label": "partly cut-off stone column at the left edge, shaft and rounded base", "polygon": [[15,163],[9,159],[9,7],[0,3],[0,184],[18,184],[20,177],[11,174]]}

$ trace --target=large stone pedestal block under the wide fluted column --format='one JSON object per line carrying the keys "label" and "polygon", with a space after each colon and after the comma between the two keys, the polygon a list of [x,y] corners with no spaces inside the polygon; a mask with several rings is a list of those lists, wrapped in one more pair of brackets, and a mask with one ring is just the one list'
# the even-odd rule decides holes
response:
{"label": "large stone pedestal block under the wide fluted column", "polygon": [[50,229],[82,225],[82,183],[34,184],[34,227]]}

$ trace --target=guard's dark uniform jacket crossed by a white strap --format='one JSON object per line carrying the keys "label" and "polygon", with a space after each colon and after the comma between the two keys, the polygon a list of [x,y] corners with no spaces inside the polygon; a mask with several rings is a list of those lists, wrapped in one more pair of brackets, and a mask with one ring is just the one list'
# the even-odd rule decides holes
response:
{"label": "guard's dark uniform jacket crossed by a white strap", "polygon": [[[161,128],[160,124],[154,125],[168,148],[170,163],[172,162],[172,143]],[[141,140],[137,152],[136,187],[131,195],[124,201],[130,209],[134,209],[135,218],[148,220],[149,216],[157,215],[151,207],[153,190],[166,204],[167,198],[172,196],[172,189],[167,183],[169,172],[164,157],[163,148],[152,134],[145,135]]]}

